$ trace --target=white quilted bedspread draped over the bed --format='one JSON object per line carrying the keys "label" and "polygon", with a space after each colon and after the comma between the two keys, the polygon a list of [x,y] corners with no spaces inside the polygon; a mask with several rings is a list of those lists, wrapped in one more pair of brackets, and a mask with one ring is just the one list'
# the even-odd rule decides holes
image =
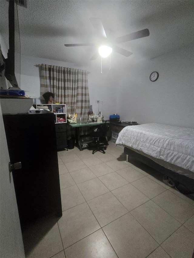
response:
{"label": "white quilted bedspread draped over the bed", "polygon": [[194,172],[194,128],[157,123],[126,126],[119,133],[116,144]]}

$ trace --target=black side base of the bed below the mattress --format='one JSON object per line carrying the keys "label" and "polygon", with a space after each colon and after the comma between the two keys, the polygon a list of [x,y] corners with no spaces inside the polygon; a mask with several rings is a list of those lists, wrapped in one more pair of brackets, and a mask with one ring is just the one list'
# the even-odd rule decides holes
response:
{"label": "black side base of the bed below the mattress", "polygon": [[124,153],[129,155],[130,157],[135,158],[136,160],[148,165],[149,167],[156,169],[157,171],[161,172],[162,174],[167,175],[168,177],[172,178],[172,180],[175,183],[182,184],[189,191],[194,193],[194,179],[186,177],[184,175],[180,175],[179,173],[176,173],[167,168],[164,168],[161,165],[159,165],[158,163],[154,162],[152,159],[147,158],[131,149],[128,149],[127,147],[124,147]]}

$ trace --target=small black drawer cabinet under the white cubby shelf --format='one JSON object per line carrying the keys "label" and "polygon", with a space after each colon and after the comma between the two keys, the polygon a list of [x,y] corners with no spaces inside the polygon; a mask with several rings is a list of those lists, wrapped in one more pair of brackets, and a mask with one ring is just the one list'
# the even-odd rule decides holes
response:
{"label": "small black drawer cabinet under the white cubby shelf", "polygon": [[67,149],[67,126],[66,123],[55,124],[57,150]]}

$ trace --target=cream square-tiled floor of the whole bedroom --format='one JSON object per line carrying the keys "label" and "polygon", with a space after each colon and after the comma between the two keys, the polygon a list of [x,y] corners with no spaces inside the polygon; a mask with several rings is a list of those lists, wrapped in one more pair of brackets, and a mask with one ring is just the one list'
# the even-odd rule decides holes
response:
{"label": "cream square-tiled floor of the whole bedroom", "polygon": [[58,152],[61,218],[25,229],[28,258],[192,258],[194,201],[109,142]]}

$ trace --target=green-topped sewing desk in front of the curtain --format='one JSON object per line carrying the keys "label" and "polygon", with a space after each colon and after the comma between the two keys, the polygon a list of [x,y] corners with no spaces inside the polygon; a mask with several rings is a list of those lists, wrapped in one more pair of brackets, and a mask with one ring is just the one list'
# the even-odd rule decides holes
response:
{"label": "green-topped sewing desk in front of the curtain", "polygon": [[[109,122],[106,122],[109,123]],[[75,128],[75,146],[78,147],[80,151],[83,149],[87,149],[87,147],[82,148],[81,143],[81,135],[80,135],[80,128],[85,126],[99,126],[102,125],[102,123],[96,123],[96,122],[77,122],[77,123],[68,123],[69,126],[72,128]]]}

